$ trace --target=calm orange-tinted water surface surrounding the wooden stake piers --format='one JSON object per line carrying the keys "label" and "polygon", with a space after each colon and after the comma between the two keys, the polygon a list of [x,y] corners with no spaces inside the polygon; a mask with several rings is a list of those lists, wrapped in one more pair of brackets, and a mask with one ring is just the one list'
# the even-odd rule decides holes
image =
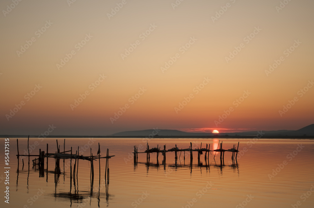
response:
{"label": "calm orange-tinted water surface surrounding the wooden stake piers", "polygon": [[[106,159],[94,162],[94,185],[90,184],[90,163],[80,160],[78,178],[70,183],[69,160],[60,161],[61,175],[55,183],[53,158],[48,160],[48,173],[40,177],[38,167],[28,168],[28,157],[16,158],[16,138],[10,138],[10,204],[4,203],[4,171],[0,173],[1,207],[314,207],[314,141],[284,139],[223,139],[223,148],[232,148],[240,142],[237,163],[233,164],[231,153],[225,153],[224,163],[220,163],[219,153],[209,155],[205,162],[201,155],[201,164],[197,161],[197,152],[193,152],[192,166],[190,155],[182,153],[175,164],[174,152],[163,156],[151,154],[150,163],[146,163],[146,153],[138,154],[138,164],[133,163],[133,145],[139,152],[146,148],[146,139],[101,139],[67,138],[65,149],[73,147],[73,153],[80,147],[79,153],[96,155],[100,143],[101,155],[115,157],[109,159],[110,180],[105,185]],[[163,149],[188,148],[190,142],[195,148],[210,149],[218,146],[218,139],[149,139],[149,147]],[[49,153],[57,151],[56,139],[30,139],[30,154],[38,154],[39,148]],[[63,150],[63,139],[58,138]],[[33,150],[34,148],[34,150]],[[19,153],[27,152],[27,139],[19,139]],[[0,145],[1,161],[4,164],[4,138]],[[213,153],[212,153],[213,154]],[[179,157],[180,153],[178,153]],[[35,157],[30,157],[34,159]],[[30,162],[32,164],[32,162]],[[74,161],[72,161],[72,166]],[[6,166],[8,167],[8,166]],[[4,170],[4,169],[3,169]],[[100,186],[99,186],[100,184]],[[70,187],[71,186],[71,187]],[[71,189],[71,192],[70,192]],[[43,194],[41,194],[41,192]],[[107,193],[106,193],[107,192]],[[40,195],[40,196],[39,196]],[[292,206],[293,205],[293,206]]]}

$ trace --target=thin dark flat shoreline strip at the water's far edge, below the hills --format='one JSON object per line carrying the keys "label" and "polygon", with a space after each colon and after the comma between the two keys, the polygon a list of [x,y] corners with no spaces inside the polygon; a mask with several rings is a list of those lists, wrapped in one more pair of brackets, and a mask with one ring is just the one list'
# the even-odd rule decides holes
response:
{"label": "thin dark flat shoreline strip at the water's far edge, below the hills", "polygon": [[[0,138],[28,138],[29,135],[0,135]],[[30,138],[43,138],[38,135],[30,135]],[[213,138],[222,138],[222,139],[252,139],[256,138],[256,135],[238,135],[238,136],[226,136],[226,135],[215,135],[215,136],[157,136],[153,138],[148,138],[148,136],[99,136],[99,135],[90,135],[90,136],[78,136],[78,135],[56,135],[56,136],[47,136],[45,138],[147,138],[147,139],[213,139]],[[260,139],[314,139],[314,136],[263,136]]]}

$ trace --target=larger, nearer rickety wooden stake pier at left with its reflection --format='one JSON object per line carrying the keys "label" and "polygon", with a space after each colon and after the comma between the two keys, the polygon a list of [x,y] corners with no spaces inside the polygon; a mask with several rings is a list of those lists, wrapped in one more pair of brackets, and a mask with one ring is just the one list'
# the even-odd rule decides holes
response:
{"label": "larger, nearer rickety wooden stake pier at left with its reflection", "polygon": [[[65,142],[65,140],[64,140]],[[18,144],[18,140],[17,140]],[[65,146],[65,145],[64,145]],[[27,173],[27,193],[29,191],[28,186],[30,183],[30,173],[31,175],[34,175],[34,173],[38,172],[39,178],[44,178],[46,173],[46,183],[48,183],[48,176],[51,180],[51,176],[54,177],[54,193],[47,194],[51,197],[55,197],[55,200],[68,200],[70,202],[70,207],[72,207],[73,203],[77,203],[78,205],[75,206],[81,206],[84,207],[86,204],[91,204],[92,199],[97,199],[98,201],[98,207],[100,207],[100,200],[106,200],[107,206],[109,205],[109,200],[114,197],[114,195],[109,194],[109,159],[113,156],[109,156],[109,149],[107,149],[106,156],[101,157],[100,155],[100,144],[98,143],[98,152],[97,156],[93,156],[91,153],[90,156],[82,156],[79,155],[79,150],[76,151],[75,154],[72,154],[72,147],[71,150],[60,152],[60,146],[58,146],[57,142],[57,152],[56,153],[49,153],[48,154],[48,144],[47,144],[47,151],[46,154],[44,151],[41,151],[39,149],[39,155],[20,155],[19,149],[17,154],[18,159],[18,166],[17,166],[17,179],[16,179],[16,190],[18,190],[19,187],[19,174],[26,174]],[[19,147],[18,147],[19,148]],[[91,148],[90,148],[91,151]],[[66,154],[66,152],[71,152],[71,154]],[[38,158],[35,158],[32,160],[32,164],[30,164],[30,156],[35,156]],[[19,169],[19,159],[22,157],[22,170]],[[28,169],[27,171],[24,171],[24,158],[28,157]],[[50,158],[50,159],[49,159]],[[44,166],[44,161],[46,159],[46,168]],[[68,159],[69,166],[67,165],[65,167],[65,160]],[[86,182],[82,187],[84,190],[79,190],[79,179],[78,179],[78,163],[79,160],[87,160],[89,162],[90,166],[90,189],[86,190]],[[105,177],[101,178],[101,164],[100,159],[106,159],[106,166],[105,166]],[[54,162],[54,169],[48,170],[49,167],[49,161]],[[60,168],[60,160],[63,160],[63,170]],[[99,161],[99,181],[98,183],[94,183],[94,161]],[[30,169],[31,167],[31,169]],[[69,170],[68,170],[69,169]],[[63,177],[60,177],[62,176]],[[67,175],[67,177],[66,177]],[[70,177],[68,177],[68,175]],[[61,183],[60,183],[60,178]],[[69,183],[69,191],[65,191],[63,186],[60,186],[61,184]]]}

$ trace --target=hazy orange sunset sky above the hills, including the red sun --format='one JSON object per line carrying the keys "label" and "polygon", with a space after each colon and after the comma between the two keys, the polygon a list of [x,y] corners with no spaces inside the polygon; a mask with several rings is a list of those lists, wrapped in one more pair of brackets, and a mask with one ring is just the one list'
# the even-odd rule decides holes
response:
{"label": "hazy orange sunset sky above the hills, including the red sun", "polygon": [[310,125],[313,7],[311,0],[3,0],[0,134]]}

